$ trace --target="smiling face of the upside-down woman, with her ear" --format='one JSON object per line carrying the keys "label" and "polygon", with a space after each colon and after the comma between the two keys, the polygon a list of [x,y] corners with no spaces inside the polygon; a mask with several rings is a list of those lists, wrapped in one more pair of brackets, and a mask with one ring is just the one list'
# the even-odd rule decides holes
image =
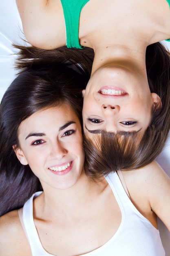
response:
{"label": "smiling face of the upside-down woman, with her ear", "polygon": [[150,93],[148,81],[131,70],[102,67],[88,82],[84,94],[83,126],[88,137],[101,130],[144,134],[152,109],[160,98]]}

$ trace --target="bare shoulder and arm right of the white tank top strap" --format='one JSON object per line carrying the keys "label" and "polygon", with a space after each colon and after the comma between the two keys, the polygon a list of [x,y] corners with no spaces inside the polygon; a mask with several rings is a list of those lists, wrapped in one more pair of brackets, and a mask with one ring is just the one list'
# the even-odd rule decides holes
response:
{"label": "bare shoulder and arm right of the white tank top strap", "polygon": [[170,177],[155,161],[147,166],[123,171],[130,199],[152,225],[156,214],[170,230]]}

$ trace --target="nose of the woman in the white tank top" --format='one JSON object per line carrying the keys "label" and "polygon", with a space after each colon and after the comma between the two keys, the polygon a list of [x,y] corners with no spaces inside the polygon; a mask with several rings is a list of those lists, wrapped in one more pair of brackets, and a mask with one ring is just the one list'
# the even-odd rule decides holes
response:
{"label": "nose of the woman in the white tank top", "polygon": [[67,154],[66,148],[61,141],[55,141],[50,148],[50,156],[55,159],[62,159]]}

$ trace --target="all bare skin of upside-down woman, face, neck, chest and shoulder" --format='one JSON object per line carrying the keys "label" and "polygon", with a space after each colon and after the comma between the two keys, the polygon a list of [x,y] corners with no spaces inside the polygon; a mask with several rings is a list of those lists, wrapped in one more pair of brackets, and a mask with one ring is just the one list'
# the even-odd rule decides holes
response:
{"label": "all bare skin of upside-down woman, face, neck, chest and shoulder", "polygon": [[[64,14],[60,0],[38,0],[36,2],[16,0],[16,2],[24,34],[32,45],[44,49],[66,45]],[[87,126],[88,119],[101,119],[102,129],[117,132],[122,131],[121,128],[117,129],[120,121],[128,123],[135,121],[141,122],[143,129],[140,133],[141,135],[144,133],[150,123],[152,108],[161,107],[159,97],[157,99],[152,97],[148,85],[146,47],[168,38],[170,38],[170,7],[166,0],[156,2],[153,0],[106,0],[100,3],[97,0],[90,0],[86,3],[80,14],[79,43],[93,48],[95,57],[91,79],[84,91],[84,127]],[[112,67],[109,73],[107,73],[107,67]],[[122,71],[124,72],[123,81]],[[101,75],[103,79],[97,81],[98,75]],[[108,112],[111,107],[110,117],[105,115],[106,113],[99,115],[92,105],[95,102],[94,88],[96,88],[96,94],[98,92],[100,94],[101,89],[106,89],[107,93],[109,89],[126,91],[129,101],[133,100],[130,91],[136,90],[140,92],[138,97],[142,99],[141,102],[147,110],[144,108],[143,113],[140,111],[133,113],[127,108],[126,105],[129,105],[127,101],[122,102],[121,97],[114,97],[117,96],[116,93],[107,95],[104,92],[102,94],[108,99],[101,97],[97,109],[103,112],[104,106],[104,112]],[[89,102],[91,102],[90,110],[92,111],[89,110]],[[136,104],[136,109],[141,109],[140,104],[138,102]],[[118,108],[120,111],[116,113]],[[123,108],[126,108],[126,115],[121,115],[124,112]],[[113,125],[112,122],[110,125],[109,122],[112,119],[117,124]],[[146,119],[146,122],[141,121]],[[88,130],[94,129],[98,128],[88,128]],[[125,129],[131,131],[132,126],[126,126]],[[133,130],[137,128],[133,127]],[[84,132],[85,135],[90,136],[85,128]],[[93,136],[95,136],[94,133]]]}

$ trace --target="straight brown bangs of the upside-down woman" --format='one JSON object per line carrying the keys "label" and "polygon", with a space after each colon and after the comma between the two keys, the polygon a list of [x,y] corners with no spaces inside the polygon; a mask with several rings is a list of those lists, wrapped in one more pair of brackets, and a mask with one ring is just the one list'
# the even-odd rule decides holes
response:
{"label": "straight brown bangs of the upside-down woman", "polygon": [[160,153],[157,146],[160,136],[163,136],[161,131],[148,128],[140,142],[135,132],[122,136],[102,131],[102,137],[93,141],[84,138],[86,174],[92,179],[100,179],[112,171],[130,171],[150,164]]}

